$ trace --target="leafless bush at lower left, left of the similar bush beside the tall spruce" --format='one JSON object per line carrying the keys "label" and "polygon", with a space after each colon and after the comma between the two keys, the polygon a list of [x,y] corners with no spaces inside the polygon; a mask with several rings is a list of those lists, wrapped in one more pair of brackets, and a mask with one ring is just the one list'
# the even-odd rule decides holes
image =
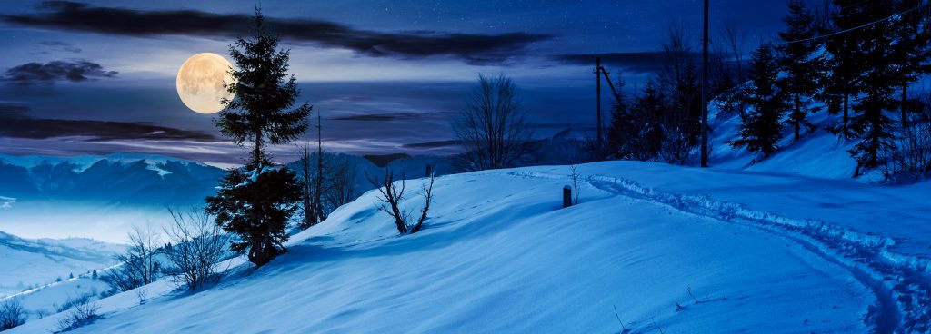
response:
{"label": "leafless bush at lower left, left of the similar bush beside the tall spruce", "polygon": [[135,226],[129,233],[129,247],[126,253],[116,256],[120,265],[101,277],[110,287],[119,291],[128,291],[155,282],[158,276],[158,261],[161,236],[153,230],[152,225],[144,228]]}

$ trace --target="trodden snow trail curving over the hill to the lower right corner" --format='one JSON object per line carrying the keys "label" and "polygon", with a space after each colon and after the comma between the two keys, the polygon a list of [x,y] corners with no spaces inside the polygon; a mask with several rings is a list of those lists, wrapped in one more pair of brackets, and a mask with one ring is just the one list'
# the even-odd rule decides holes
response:
{"label": "trodden snow trail curving over the hill to the lower right corner", "polygon": [[[511,176],[567,180],[566,175],[515,171]],[[752,210],[738,203],[716,201],[707,195],[671,194],[643,187],[633,180],[590,175],[585,182],[600,191],[662,204],[678,211],[737,223],[787,238],[849,272],[875,295],[866,323],[875,333],[925,333],[931,311],[931,279],[927,261],[888,250],[895,242],[879,235],[860,234],[821,220],[796,220],[774,212]]]}

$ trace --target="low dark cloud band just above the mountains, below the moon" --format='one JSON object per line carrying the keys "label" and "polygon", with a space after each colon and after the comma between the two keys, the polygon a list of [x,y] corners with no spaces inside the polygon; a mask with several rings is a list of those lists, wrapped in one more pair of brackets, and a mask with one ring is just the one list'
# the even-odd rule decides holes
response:
{"label": "low dark cloud band just above the mountains, below the moon", "polygon": [[28,107],[0,104],[0,137],[44,140],[83,137],[88,141],[106,140],[192,140],[217,141],[204,132],[162,127],[151,123],[96,120],[43,119],[30,117]]}

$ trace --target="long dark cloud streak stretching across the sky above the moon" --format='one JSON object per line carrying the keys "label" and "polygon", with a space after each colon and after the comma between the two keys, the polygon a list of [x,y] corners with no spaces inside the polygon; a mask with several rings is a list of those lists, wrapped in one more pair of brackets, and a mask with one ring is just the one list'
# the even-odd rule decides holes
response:
{"label": "long dark cloud streak stretching across the sky above the moon", "polygon": [[[2,15],[7,23],[71,31],[133,36],[167,34],[233,36],[250,31],[251,18],[241,14],[213,14],[197,10],[133,10],[92,7],[69,1],[42,3],[41,13]],[[381,33],[358,30],[326,20],[266,18],[282,38],[344,47],[370,56],[421,58],[449,56],[471,63],[500,63],[519,55],[533,43],[552,39],[535,33],[440,33],[432,31]]]}

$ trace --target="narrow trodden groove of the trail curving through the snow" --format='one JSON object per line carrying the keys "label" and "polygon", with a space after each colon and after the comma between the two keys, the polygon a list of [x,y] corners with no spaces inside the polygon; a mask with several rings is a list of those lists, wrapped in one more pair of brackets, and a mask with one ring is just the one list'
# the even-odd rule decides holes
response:
{"label": "narrow trodden groove of the trail curving through the snow", "polygon": [[[507,173],[507,175],[549,180],[567,179],[567,176],[564,175],[554,175],[540,172],[510,172]],[[735,208],[742,208],[739,207],[739,205],[728,205],[727,203],[713,202],[708,198],[700,200],[704,201],[705,205],[696,205],[696,203],[693,203],[695,201],[686,200],[683,198],[683,195],[660,193],[653,189],[644,191],[644,189],[636,182],[615,177],[594,175],[589,176],[583,180],[585,180],[586,183],[592,187],[610,194],[622,195],[628,198],[667,206],[677,211],[713,220],[737,223],[743,226],[748,226],[750,228],[762,230],[770,234],[776,234],[787,238],[806,248],[817,257],[840,266],[848,273],[850,273],[852,277],[857,279],[861,285],[870,289],[873,296],[875,297],[876,303],[870,306],[867,319],[865,319],[865,321],[867,322],[867,325],[872,327],[873,333],[895,333],[897,331],[903,330],[903,327],[901,326],[902,314],[899,310],[899,305],[896,302],[896,296],[894,295],[892,289],[884,284],[882,279],[884,276],[883,274],[890,273],[880,273],[873,268],[865,267],[862,265],[862,263],[860,263],[860,261],[870,261],[871,259],[858,256],[856,255],[857,252],[854,253],[854,256],[845,256],[844,253],[849,253],[851,251],[850,249],[844,247],[840,247],[840,249],[838,249],[839,245],[831,243],[827,240],[822,240],[820,237],[821,235],[812,235],[806,233],[807,231],[802,228],[805,226],[804,223],[801,226],[793,226],[792,224],[787,226],[786,221],[777,220],[786,219],[778,217],[772,213],[765,213],[763,215],[747,215],[746,212],[743,212],[744,214],[741,214],[742,212],[734,211]],[[820,229],[815,231],[822,231],[823,229],[824,226],[821,226]],[[850,237],[850,235],[846,233],[841,233],[837,236],[840,236],[842,239],[844,236]],[[858,239],[858,241],[862,242],[864,240]],[[867,245],[871,247],[882,247],[885,244],[885,240],[879,237],[873,240],[867,239],[866,242]],[[880,265],[880,267],[885,266]],[[895,275],[895,273],[892,274]]]}

